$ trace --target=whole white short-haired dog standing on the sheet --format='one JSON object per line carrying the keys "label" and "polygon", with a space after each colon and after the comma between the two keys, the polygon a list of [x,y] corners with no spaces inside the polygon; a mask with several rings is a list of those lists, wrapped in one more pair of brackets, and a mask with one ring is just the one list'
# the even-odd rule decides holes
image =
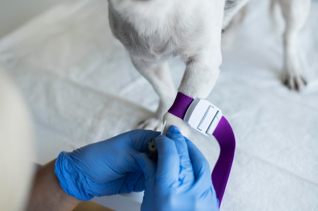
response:
{"label": "whole white short-haired dog standing on the sheet", "polygon": [[[297,37],[310,9],[310,0],[272,0],[280,5],[286,23],[283,82],[299,90],[306,84],[297,56]],[[219,74],[221,31],[248,0],[108,0],[114,36],[129,51],[136,69],[160,96],[156,116],[143,122],[160,129],[162,117],[184,135],[186,124],[166,113],[176,90],[167,60],[179,56],[186,64],[178,91],[206,98]]]}

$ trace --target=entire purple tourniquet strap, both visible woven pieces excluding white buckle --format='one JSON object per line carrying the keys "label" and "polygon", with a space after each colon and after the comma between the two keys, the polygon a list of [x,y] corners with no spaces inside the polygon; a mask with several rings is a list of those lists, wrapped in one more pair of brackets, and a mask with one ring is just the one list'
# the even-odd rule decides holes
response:
{"label": "entire purple tourniquet strap, both visible woven pieces excluding white buckle", "polygon": [[[168,112],[183,119],[193,100],[192,97],[178,92]],[[213,136],[220,146],[220,154],[212,171],[211,179],[220,206],[229,179],[235,152],[235,136],[231,125],[224,116],[221,117],[217,124]]]}

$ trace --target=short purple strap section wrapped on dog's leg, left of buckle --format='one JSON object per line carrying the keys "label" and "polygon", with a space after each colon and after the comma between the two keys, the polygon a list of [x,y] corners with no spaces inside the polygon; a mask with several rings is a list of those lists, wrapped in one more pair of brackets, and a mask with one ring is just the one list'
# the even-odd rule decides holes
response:
{"label": "short purple strap section wrapped on dog's leg, left of buckle", "polygon": [[189,108],[189,105],[192,103],[193,98],[182,94],[181,92],[177,93],[176,99],[174,100],[171,108],[168,110],[169,113],[177,116],[181,119],[184,118],[186,110]]}

